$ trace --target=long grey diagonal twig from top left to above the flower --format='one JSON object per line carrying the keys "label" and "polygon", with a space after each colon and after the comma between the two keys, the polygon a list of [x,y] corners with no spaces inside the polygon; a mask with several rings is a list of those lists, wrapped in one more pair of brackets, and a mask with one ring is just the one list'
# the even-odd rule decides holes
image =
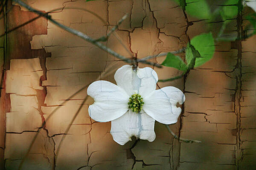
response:
{"label": "long grey diagonal twig from top left to above the flower", "polygon": [[[54,24],[57,25],[58,27],[60,27],[60,28],[62,28],[62,29],[64,29],[64,30],[66,30],[66,31],[68,31],[68,32],[70,32],[70,33],[72,33],[72,34],[75,34],[75,35],[77,35],[77,36],[79,36],[79,37],[81,37],[81,38],[83,38],[84,40],[86,40],[86,41],[92,43],[93,45],[96,45],[96,46],[99,47],[100,49],[102,49],[102,50],[104,50],[104,51],[107,51],[109,54],[112,54],[112,55],[115,56],[116,58],[122,59],[124,62],[128,62],[128,63],[131,63],[131,62],[132,62],[131,59],[128,59],[128,58],[126,58],[126,57],[124,57],[124,56],[122,56],[122,55],[116,53],[115,51],[113,51],[113,50],[111,50],[110,48],[106,47],[106,46],[103,45],[102,43],[97,42],[97,41],[94,40],[93,38],[87,36],[86,34],[80,32],[80,31],[77,31],[77,30],[75,30],[75,29],[69,28],[69,27],[67,27],[67,26],[64,26],[64,25],[62,25],[61,23],[58,23],[58,22],[55,21],[55,20],[52,20],[52,18],[51,18],[50,15],[45,16],[44,13],[42,13],[41,11],[38,11],[38,10],[36,10],[36,9],[34,9],[34,8],[30,7],[30,6],[28,6],[26,3],[23,3],[23,2],[20,1],[20,0],[13,0],[13,1],[16,2],[16,3],[18,3],[18,4],[20,4],[20,6],[23,6],[23,7],[27,8],[29,11],[33,11],[33,12],[39,14],[39,15],[42,15],[43,17],[47,18],[50,22],[54,23]],[[156,66],[156,67],[158,67],[158,68],[161,68],[161,67],[162,67],[162,65],[159,65],[159,64],[154,63],[154,62],[148,62],[148,61],[142,61],[142,62],[145,63],[145,64],[148,64],[148,65],[154,65],[154,66]]]}

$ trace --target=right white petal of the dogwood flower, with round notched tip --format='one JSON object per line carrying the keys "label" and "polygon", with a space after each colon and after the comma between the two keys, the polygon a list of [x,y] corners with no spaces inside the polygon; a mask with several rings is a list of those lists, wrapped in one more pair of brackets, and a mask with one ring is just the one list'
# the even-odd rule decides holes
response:
{"label": "right white petal of the dogwood flower, with round notched tip", "polygon": [[184,101],[185,96],[178,88],[164,87],[144,99],[143,110],[157,122],[172,124],[181,113],[181,108],[176,107],[177,102],[182,104]]}

